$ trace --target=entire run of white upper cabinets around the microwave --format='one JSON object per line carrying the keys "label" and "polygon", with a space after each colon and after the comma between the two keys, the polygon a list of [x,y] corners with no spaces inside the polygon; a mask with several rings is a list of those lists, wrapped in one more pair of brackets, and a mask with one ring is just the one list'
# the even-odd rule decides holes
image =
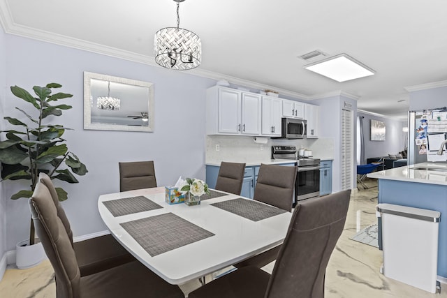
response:
{"label": "entire run of white upper cabinets around the microwave", "polygon": [[318,137],[319,107],[222,86],[207,89],[207,135],[281,136],[281,118],[307,120],[307,137]]}

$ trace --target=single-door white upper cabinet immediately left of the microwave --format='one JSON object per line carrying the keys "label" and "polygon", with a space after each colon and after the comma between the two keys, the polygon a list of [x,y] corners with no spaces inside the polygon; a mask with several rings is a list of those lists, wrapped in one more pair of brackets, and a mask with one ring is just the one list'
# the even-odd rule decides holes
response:
{"label": "single-door white upper cabinet immediately left of the microwave", "polygon": [[262,97],[262,135],[281,136],[282,100]]}

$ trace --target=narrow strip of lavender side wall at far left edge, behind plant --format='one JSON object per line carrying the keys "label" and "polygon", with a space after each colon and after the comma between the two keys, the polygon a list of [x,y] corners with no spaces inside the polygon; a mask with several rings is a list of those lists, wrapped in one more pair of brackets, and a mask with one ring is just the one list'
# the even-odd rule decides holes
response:
{"label": "narrow strip of lavender side wall at far left edge, behind plant", "polygon": [[[0,119],[3,119],[6,82],[6,34],[0,26]],[[0,121],[0,131],[3,130],[3,121]],[[0,141],[3,139],[0,138]],[[0,183],[0,280],[6,269],[6,198],[3,184]]]}

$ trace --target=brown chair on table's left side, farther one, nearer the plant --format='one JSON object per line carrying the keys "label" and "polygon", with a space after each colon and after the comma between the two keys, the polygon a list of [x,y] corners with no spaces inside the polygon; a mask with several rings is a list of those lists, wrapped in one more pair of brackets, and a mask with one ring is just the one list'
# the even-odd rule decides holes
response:
{"label": "brown chair on table's left side, farther one, nearer the plant", "polygon": [[43,172],[39,174],[39,181],[41,181],[50,192],[52,201],[57,210],[57,216],[61,219],[67,232],[68,239],[71,242],[71,246],[73,246],[73,250],[75,251],[81,276],[95,274],[99,271],[104,271],[135,260],[135,258],[133,258],[133,256],[126,251],[126,249],[119,244],[111,234],[73,242],[71,225],[64,209],[59,203],[54,184],[50,177]]}

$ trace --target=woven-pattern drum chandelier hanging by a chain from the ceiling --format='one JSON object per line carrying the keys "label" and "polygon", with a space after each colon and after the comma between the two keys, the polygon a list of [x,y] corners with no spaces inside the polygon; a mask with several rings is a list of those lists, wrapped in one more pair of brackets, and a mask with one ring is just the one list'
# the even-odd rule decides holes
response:
{"label": "woven-pattern drum chandelier hanging by a chain from the ceiling", "polygon": [[177,2],[177,27],[156,31],[154,36],[154,57],[156,64],[175,70],[196,68],[202,61],[200,37],[192,31],[179,28],[179,3]]}

